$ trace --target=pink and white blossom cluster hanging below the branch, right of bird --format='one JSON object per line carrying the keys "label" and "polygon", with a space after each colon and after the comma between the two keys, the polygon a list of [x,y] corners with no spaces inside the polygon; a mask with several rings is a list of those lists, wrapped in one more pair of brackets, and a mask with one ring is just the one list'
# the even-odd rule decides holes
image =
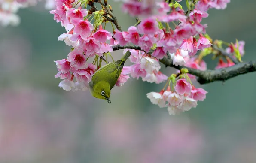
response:
{"label": "pink and white blossom cluster hanging below the branch, right of bird", "polygon": [[[203,88],[195,88],[186,70],[182,69],[181,71],[182,74],[180,74],[180,78],[177,80],[176,74],[170,76],[170,82],[166,90],[164,88],[160,92],[150,92],[147,94],[147,98],[153,104],[158,105],[160,108],[168,107],[170,115],[176,115],[195,108],[197,102],[203,101],[207,94],[207,91]],[[170,87],[171,82],[173,83],[172,89]]]}

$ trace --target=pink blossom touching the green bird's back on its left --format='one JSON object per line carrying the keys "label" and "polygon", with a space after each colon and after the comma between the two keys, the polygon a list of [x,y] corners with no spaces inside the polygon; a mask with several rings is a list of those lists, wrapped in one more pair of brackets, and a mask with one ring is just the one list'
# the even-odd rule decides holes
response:
{"label": "pink blossom touching the green bird's back on its left", "polygon": [[77,82],[85,82],[88,83],[91,81],[91,77],[94,74],[96,66],[93,64],[89,64],[86,69],[78,69],[74,76],[76,77]]}

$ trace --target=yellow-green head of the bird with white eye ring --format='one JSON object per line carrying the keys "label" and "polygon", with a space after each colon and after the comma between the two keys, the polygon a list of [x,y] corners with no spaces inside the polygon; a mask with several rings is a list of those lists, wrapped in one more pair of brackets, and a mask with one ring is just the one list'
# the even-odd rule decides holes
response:
{"label": "yellow-green head of the bird with white eye ring", "polygon": [[105,99],[108,103],[111,103],[110,93],[110,84],[108,82],[98,82],[91,89],[91,94],[93,97]]}

